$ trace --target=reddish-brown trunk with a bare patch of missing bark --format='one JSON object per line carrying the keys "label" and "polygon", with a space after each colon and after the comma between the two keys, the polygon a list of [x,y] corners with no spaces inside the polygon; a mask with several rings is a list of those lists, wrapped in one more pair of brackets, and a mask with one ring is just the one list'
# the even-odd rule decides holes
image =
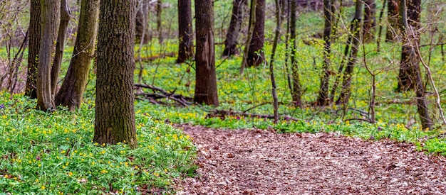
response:
{"label": "reddish-brown trunk with a bare patch of missing bark", "polygon": [[195,0],[195,95],[198,104],[218,106],[214,54],[214,6],[212,0]]}

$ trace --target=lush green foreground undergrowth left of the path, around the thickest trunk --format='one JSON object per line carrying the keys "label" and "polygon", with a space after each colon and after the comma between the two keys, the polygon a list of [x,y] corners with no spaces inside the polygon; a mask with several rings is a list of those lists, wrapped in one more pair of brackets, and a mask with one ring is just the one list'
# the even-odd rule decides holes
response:
{"label": "lush green foreground undergrowth left of the path, around the thickest trunk", "polygon": [[191,176],[195,146],[180,130],[136,113],[138,147],[92,143],[94,104],[71,113],[0,92],[0,194],[172,193]]}

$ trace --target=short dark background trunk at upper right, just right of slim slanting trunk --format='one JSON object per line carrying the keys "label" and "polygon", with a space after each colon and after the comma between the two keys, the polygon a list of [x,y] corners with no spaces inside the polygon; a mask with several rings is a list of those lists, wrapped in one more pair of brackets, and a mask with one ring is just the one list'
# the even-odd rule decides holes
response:
{"label": "short dark background trunk at upper right, just right of slim slanting trunk", "polygon": [[375,40],[376,3],[375,0],[365,0],[364,3],[363,40],[370,43]]}

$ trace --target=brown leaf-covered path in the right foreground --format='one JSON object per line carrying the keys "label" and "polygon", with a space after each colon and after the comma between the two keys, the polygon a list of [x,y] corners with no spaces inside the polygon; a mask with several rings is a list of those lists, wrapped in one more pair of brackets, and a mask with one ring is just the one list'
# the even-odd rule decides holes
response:
{"label": "brown leaf-covered path in the right foreground", "polygon": [[177,194],[446,194],[446,158],[336,133],[177,125],[198,149]]}

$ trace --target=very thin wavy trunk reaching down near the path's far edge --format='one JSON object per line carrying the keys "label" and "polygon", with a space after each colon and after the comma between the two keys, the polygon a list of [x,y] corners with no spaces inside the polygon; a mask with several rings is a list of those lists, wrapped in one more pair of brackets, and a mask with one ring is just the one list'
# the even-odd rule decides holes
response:
{"label": "very thin wavy trunk reaching down near the path's far edge", "polygon": [[[272,96],[273,96],[273,107],[274,107],[274,124],[277,124],[279,121],[279,101],[277,100],[277,91],[276,91],[276,79],[274,78],[274,55],[276,55],[277,43],[279,42],[280,36],[280,26],[281,26],[281,14],[280,14],[280,5],[279,0],[276,1],[276,32],[274,35],[274,45],[273,50],[271,52],[271,60],[269,61],[269,74],[271,76],[271,85],[272,85]],[[292,13],[291,13],[292,14]]]}

